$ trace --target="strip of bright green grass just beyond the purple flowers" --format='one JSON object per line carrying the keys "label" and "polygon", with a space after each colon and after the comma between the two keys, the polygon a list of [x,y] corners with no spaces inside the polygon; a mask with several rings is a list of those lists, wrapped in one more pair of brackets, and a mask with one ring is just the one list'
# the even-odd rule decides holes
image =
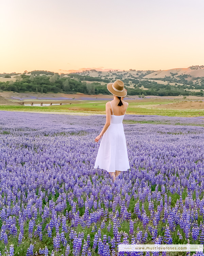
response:
{"label": "strip of bright green grass just beyond the purple flowers", "polygon": [[[44,111],[44,112],[84,112],[84,113],[95,113],[95,114],[104,114],[105,115],[105,104],[107,101],[91,101],[91,100],[79,100],[72,104],[67,105],[53,105],[53,106],[13,106],[13,105],[2,105],[0,110],[3,111]],[[168,103],[177,102],[168,101]],[[184,110],[172,110],[172,109],[162,109],[154,108],[154,105],[165,104],[167,100],[164,101],[142,101],[142,102],[129,102],[127,114],[138,114],[138,115],[162,115],[162,116],[178,116],[178,117],[193,117],[199,116],[198,112],[202,110],[195,109],[184,109]]]}

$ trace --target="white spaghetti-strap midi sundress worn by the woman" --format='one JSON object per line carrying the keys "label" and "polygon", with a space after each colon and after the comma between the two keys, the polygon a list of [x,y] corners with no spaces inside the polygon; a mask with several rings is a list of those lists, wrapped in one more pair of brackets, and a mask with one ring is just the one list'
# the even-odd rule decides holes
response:
{"label": "white spaghetti-strap midi sundress worn by the woman", "polygon": [[95,169],[99,167],[100,169],[104,169],[108,172],[115,172],[116,170],[126,171],[130,169],[125,133],[122,123],[124,116],[125,114],[120,116],[116,116],[114,114],[111,115],[111,124],[104,132],[101,139],[94,166]]}

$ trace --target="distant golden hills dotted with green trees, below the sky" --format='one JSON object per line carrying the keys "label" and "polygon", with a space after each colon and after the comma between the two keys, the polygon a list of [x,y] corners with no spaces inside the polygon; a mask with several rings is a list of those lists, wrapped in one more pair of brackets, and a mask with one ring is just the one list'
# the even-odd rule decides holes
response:
{"label": "distant golden hills dotted with green trees, below the sky", "polygon": [[97,70],[72,73],[45,70],[24,71],[22,74],[0,74],[0,90],[40,93],[110,94],[107,83],[122,80],[128,95],[204,96],[204,66],[169,70]]}

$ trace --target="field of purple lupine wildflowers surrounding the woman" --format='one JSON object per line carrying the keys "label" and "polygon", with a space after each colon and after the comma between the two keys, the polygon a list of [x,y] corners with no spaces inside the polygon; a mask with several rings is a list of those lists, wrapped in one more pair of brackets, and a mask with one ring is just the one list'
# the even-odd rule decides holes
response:
{"label": "field of purple lupine wildflowers surrounding the woman", "polygon": [[204,244],[204,119],[125,115],[130,170],[94,169],[105,115],[0,111],[0,255]]}

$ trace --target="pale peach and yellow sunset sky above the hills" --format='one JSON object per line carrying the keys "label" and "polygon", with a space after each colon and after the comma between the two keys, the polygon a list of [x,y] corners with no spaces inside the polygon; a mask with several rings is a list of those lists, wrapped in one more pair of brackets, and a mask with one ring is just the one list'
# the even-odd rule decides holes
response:
{"label": "pale peach and yellow sunset sky above the hills", "polygon": [[204,65],[203,0],[2,0],[0,73]]}

